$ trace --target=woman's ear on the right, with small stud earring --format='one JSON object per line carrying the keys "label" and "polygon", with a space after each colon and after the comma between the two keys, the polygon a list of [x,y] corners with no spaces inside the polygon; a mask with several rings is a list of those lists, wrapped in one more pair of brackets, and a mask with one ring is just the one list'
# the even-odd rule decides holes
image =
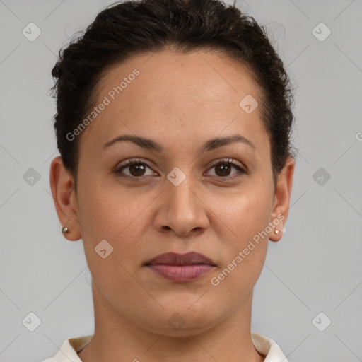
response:
{"label": "woman's ear on the right, with small stud earring", "polygon": [[[276,182],[274,205],[270,216],[270,222],[274,225],[269,233],[271,241],[279,241],[283,235],[284,224],[288,218],[295,165],[294,158],[289,157]],[[275,230],[279,230],[279,233],[276,234]]]}

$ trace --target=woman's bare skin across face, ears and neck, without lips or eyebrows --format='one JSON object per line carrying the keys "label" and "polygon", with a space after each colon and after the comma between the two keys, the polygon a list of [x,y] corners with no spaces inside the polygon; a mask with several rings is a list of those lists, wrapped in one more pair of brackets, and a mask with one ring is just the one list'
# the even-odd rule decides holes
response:
{"label": "woman's bare skin across face, ears and neck, without lips or eyebrows", "polygon": [[[264,361],[250,334],[252,288],[268,240],[280,240],[281,233],[273,228],[218,286],[211,278],[278,215],[284,220],[276,228],[283,230],[295,162],[288,158],[274,188],[259,107],[248,115],[239,106],[245,95],[260,100],[245,66],[204,49],[138,54],[107,69],[97,104],[134,69],[139,76],[81,133],[77,192],[62,158],[50,169],[59,221],[70,230],[64,236],[83,239],[93,277],[95,332],[78,355],[86,362]],[[131,141],[103,149],[122,134],[157,141],[164,151]],[[234,142],[199,153],[209,139],[232,134],[255,149]],[[115,173],[130,158],[149,168]],[[224,158],[248,173],[230,166],[223,176],[215,164]],[[167,178],[175,167],[186,176],[178,186]],[[113,247],[105,259],[95,252],[100,240]],[[200,252],[216,267],[200,279],[175,282],[144,266],[170,251]],[[174,313],[185,322],[180,329],[168,324]]]}

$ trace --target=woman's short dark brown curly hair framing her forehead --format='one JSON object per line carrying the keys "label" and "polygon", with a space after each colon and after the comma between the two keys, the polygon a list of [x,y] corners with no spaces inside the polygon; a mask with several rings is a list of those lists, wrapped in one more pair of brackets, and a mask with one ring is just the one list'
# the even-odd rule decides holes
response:
{"label": "woman's short dark brown curly hair framing her forehead", "polygon": [[293,95],[283,62],[255,18],[220,0],[135,0],[114,3],[66,49],[52,69],[57,98],[54,129],[64,166],[76,182],[79,138],[76,129],[96,102],[104,71],[141,52],[171,47],[179,52],[211,49],[247,66],[262,89],[259,110],[271,144],[274,185],[293,156]]}

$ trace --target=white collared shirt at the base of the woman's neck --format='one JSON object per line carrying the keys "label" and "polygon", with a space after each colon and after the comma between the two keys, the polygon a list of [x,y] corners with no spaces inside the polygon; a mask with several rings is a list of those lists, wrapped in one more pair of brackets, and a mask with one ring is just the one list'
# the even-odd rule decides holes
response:
{"label": "white collared shirt at the base of the woman's neck", "polygon": [[[91,341],[92,337],[93,334],[66,339],[57,354],[43,362],[82,362],[77,352],[80,352]],[[260,354],[266,356],[264,362],[288,362],[286,356],[273,339],[252,332],[252,343]]]}

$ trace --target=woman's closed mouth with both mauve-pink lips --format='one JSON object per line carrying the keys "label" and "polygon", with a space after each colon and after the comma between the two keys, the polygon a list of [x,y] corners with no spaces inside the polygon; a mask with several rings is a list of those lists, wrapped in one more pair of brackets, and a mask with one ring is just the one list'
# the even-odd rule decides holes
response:
{"label": "woman's closed mouth with both mauve-pink lips", "polygon": [[192,281],[208,274],[216,264],[199,252],[187,252],[187,254],[166,252],[149,260],[145,266],[164,279]]}

